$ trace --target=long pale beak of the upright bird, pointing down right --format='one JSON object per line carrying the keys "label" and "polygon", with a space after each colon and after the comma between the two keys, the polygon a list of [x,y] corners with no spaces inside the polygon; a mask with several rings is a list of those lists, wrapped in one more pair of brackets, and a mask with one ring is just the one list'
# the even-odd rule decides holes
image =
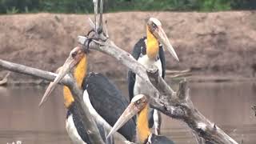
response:
{"label": "long pale beak of the upright bird, pointing down right", "polygon": [[162,43],[162,45],[170,52],[171,55],[179,62],[178,56],[174,50],[174,47],[171,46],[169,39],[166,36],[164,30],[162,30],[161,26],[158,26],[158,29],[154,31],[154,36],[158,38],[158,41]]}

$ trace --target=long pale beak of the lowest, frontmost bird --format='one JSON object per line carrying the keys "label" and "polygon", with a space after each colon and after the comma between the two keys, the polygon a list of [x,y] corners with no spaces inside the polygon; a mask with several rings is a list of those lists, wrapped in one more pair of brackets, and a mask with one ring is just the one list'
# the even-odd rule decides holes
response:
{"label": "long pale beak of the lowest, frontmost bird", "polygon": [[138,107],[134,105],[134,103],[130,103],[130,105],[126,108],[126,110],[122,113],[120,118],[118,118],[118,121],[115,122],[114,126],[110,130],[110,134],[107,135],[107,138],[109,138],[114,132],[118,131],[126,122],[130,120],[130,118],[133,118],[135,114],[139,112]]}

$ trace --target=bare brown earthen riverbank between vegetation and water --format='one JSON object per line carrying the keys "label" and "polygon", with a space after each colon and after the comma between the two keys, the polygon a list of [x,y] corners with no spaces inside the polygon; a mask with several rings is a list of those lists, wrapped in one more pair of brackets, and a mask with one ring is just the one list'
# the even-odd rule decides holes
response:
{"label": "bare brown earthen riverbank between vegetation and water", "polygon": [[[86,34],[92,15],[17,14],[0,16],[0,58],[54,71]],[[191,81],[215,79],[253,80],[256,71],[256,12],[218,13],[123,12],[105,14],[110,38],[130,52],[145,35],[145,20],[155,17],[170,38],[180,62],[166,54],[167,70],[191,70]],[[91,51],[89,71],[110,78],[126,78],[126,67],[105,54]],[[0,79],[6,70],[0,68]],[[10,83],[35,82],[37,78],[10,73]],[[215,81],[214,80],[214,81]]]}

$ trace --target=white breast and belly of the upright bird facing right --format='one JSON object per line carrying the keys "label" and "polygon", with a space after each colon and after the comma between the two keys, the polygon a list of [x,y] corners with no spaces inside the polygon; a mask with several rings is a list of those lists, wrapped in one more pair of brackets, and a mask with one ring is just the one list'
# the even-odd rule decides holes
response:
{"label": "white breast and belly of the upright bird facing right", "polygon": [[[162,62],[160,59],[157,61],[151,60],[148,58],[147,55],[142,56],[142,58],[138,58],[138,62],[141,63],[143,66],[146,67],[146,69],[149,69],[150,67],[157,66],[158,67],[158,72],[160,76],[162,77]],[[135,78],[135,83],[134,83],[134,95],[137,94],[143,94],[145,90],[147,90],[148,87],[146,86],[145,82],[140,78],[139,76],[136,75]]]}

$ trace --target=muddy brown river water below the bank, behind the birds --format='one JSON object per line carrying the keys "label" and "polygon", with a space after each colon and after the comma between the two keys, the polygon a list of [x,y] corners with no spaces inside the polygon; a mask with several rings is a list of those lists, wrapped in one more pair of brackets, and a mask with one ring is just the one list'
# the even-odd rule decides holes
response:
{"label": "muddy brown river water below the bank, behind the birds", "polygon": [[[127,95],[126,83],[118,83]],[[59,86],[41,109],[38,102],[46,87],[0,87],[0,143],[71,143],[66,134],[66,110]],[[210,121],[239,143],[256,143],[256,82],[190,83],[190,97]],[[195,143],[185,123],[163,116],[162,134],[176,143]]]}

